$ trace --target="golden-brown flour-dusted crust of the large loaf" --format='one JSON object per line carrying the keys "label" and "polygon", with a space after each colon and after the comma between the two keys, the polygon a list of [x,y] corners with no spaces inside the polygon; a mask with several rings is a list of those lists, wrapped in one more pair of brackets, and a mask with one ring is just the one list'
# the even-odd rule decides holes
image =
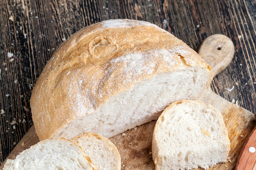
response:
{"label": "golden-brown flour-dusted crust of the large loaf", "polygon": [[[40,140],[71,139],[86,132],[83,126],[87,123],[82,124],[82,119],[92,116],[109,99],[139,82],[186,67],[206,70],[202,89],[209,86],[209,65],[182,40],[154,24],[119,19],[87,26],[59,47],[34,86],[30,104],[37,135]],[[89,119],[105,121],[100,117]],[[157,117],[140,124],[152,119]],[[75,127],[77,120],[80,123]]]}

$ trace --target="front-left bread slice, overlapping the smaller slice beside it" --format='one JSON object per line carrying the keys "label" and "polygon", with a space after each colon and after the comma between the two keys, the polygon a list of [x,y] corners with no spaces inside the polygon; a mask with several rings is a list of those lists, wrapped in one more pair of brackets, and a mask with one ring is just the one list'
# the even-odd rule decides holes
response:
{"label": "front-left bread slice, overlapping the smaller slice beside it", "polygon": [[76,143],[46,139],[8,159],[3,170],[98,170]]}

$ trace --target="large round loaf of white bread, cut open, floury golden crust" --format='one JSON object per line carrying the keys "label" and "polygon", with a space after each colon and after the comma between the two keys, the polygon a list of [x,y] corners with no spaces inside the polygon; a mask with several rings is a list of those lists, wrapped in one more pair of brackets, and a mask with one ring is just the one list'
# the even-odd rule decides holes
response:
{"label": "large round loaf of white bread, cut open, floury golden crust", "polygon": [[40,140],[85,132],[106,138],[157,119],[172,102],[196,99],[211,68],[155,24],[107,20],[66,40],[40,74],[31,113]]}

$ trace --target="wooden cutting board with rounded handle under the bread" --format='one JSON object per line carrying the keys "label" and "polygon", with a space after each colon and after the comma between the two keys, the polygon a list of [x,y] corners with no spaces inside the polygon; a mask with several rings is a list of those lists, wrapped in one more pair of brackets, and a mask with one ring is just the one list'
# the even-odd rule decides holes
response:
{"label": "wooden cutting board with rounded handle under the bread", "polygon": [[[216,34],[202,42],[198,53],[211,66],[214,77],[231,62],[234,55],[234,45],[226,36]],[[250,132],[256,126],[254,114],[216,95],[210,88],[198,100],[206,104],[212,104],[220,110],[231,141],[228,161],[219,163],[210,170],[234,170],[240,150]],[[151,152],[155,122],[151,121],[110,138],[121,155],[122,170],[155,169]],[[35,128],[32,126],[7,159],[14,159],[22,150],[29,148],[38,141]],[[0,169],[2,169],[4,163],[2,163]]]}

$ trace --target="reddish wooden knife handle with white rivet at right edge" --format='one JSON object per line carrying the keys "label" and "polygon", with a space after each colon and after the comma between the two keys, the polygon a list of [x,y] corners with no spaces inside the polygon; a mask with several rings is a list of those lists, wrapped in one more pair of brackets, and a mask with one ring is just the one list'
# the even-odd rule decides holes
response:
{"label": "reddish wooden knife handle with white rivet at right edge", "polygon": [[252,130],[238,157],[235,170],[254,170],[256,168],[256,127]]}

